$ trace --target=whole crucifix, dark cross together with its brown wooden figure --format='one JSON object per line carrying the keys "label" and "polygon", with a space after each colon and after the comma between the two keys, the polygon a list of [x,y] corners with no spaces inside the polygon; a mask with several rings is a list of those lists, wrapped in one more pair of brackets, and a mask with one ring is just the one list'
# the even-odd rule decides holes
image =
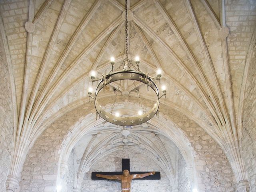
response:
{"label": "whole crucifix, dark cross together with its brown wooden figure", "polygon": [[130,172],[130,159],[122,159],[122,172],[92,172],[92,180],[120,180],[122,192],[130,192],[133,179],[159,180],[160,172]]}

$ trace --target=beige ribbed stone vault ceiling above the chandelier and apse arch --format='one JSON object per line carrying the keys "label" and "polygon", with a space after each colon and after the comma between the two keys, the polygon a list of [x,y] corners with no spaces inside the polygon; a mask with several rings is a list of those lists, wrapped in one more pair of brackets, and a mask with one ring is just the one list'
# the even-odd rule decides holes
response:
{"label": "beige ribbed stone vault ceiling above the chandelier and apse arch", "polygon": [[[164,71],[168,94],[162,106],[200,124],[228,152],[242,178],[235,146],[240,146],[240,90],[255,2],[130,0],[128,6],[133,13],[128,52],[133,61],[140,56],[145,72]],[[1,1],[0,10],[13,69],[14,141],[20,154],[20,144],[29,145],[50,120],[87,102],[91,70],[108,72],[111,56],[116,66],[121,63],[124,0]],[[121,87],[131,95],[132,89],[131,84]]]}

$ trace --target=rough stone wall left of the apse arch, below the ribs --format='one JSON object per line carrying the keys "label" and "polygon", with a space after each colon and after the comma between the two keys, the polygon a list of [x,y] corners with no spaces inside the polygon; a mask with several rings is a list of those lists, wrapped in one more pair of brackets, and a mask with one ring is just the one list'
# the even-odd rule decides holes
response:
{"label": "rough stone wall left of the apse arch, below the ribs", "polygon": [[54,121],[36,140],[24,162],[21,192],[56,192],[59,150],[69,128],[84,115],[87,107],[80,106]]}

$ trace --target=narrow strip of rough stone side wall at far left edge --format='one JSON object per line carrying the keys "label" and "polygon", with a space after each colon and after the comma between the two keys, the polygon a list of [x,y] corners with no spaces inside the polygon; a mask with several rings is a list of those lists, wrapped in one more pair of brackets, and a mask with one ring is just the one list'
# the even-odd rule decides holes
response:
{"label": "narrow strip of rough stone side wall at far left edge", "polygon": [[5,182],[10,167],[13,134],[12,96],[6,55],[0,36],[0,192],[5,192]]}

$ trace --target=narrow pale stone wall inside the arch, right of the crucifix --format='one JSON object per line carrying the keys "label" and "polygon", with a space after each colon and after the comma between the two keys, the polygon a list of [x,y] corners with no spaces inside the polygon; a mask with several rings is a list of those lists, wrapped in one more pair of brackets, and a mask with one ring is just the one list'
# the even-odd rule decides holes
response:
{"label": "narrow pale stone wall inside the arch, right of the crucifix", "polygon": [[178,183],[179,192],[191,192],[190,179],[186,174],[186,162],[182,155],[179,153],[178,158]]}

